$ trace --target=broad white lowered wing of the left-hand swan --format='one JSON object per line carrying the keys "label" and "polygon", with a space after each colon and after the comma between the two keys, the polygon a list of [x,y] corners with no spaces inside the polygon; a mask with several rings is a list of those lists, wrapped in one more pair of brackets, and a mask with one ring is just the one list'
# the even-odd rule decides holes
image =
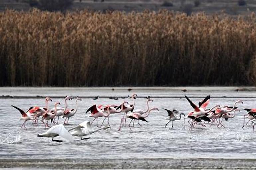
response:
{"label": "broad white lowered wing of the left-hand swan", "polygon": [[73,141],[73,136],[66,130],[63,124],[52,126],[46,133],[55,133],[62,138]]}

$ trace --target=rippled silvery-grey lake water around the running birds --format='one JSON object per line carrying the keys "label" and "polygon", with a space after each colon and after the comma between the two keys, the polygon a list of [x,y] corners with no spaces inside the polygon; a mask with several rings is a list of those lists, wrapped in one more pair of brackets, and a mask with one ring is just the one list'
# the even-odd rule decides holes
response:
{"label": "rippled silvery-grey lake water around the running birds", "polygon": [[[14,96],[127,96],[131,92],[138,93],[139,96],[237,96],[237,99],[244,101],[244,104],[237,106],[242,108],[255,107],[255,98],[241,98],[256,96],[254,91],[236,92],[234,88],[223,87],[196,87],[187,88],[187,92],[182,92],[180,88],[136,88],[128,92],[126,88],[0,88],[0,95]],[[198,103],[202,98],[192,98],[192,101]],[[237,100],[236,98],[212,98],[209,108],[215,104],[231,105]],[[82,102],[78,101],[78,111],[74,117],[71,117],[69,124],[65,127],[71,128],[88,118],[85,111],[93,104],[120,104],[123,100],[132,102],[131,99],[111,100],[99,98],[83,98]],[[50,108],[54,102],[60,101],[64,106],[63,98],[54,98],[50,103]],[[118,131],[120,119],[123,114],[111,115],[109,122],[111,129],[102,130],[90,135],[89,140],[80,140],[76,137],[73,142],[65,141],[62,143],[52,142],[50,138],[40,138],[37,134],[45,132],[46,129],[42,124],[33,125],[31,121],[26,123],[27,129],[21,129],[23,120],[20,120],[20,113],[11,107],[16,105],[23,110],[30,106],[44,106],[43,98],[31,99],[0,99],[0,158],[13,159],[44,159],[44,158],[85,158],[85,159],[126,159],[126,158],[236,158],[246,159],[256,158],[255,133],[250,126],[242,129],[243,115],[245,111],[238,113],[235,118],[224,122],[226,128],[209,128],[197,125],[192,130],[186,123],[183,129],[183,120],[175,121],[174,128],[171,123],[164,128],[167,120],[167,113],[162,108],[178,109],[185,114],[192,110],[192,107],[185,98],[153,98],[150,107],[158,107],[159,112],[152,112],[148,118],[148,123],[141,122],[140,127],[135,122],[132,131],[128,127],[122,127]],[[69,108],[74,108],[74,101],[68,102]],[[138,98],[135,109],[145,109],[146,99]],[[103,118],[99,118],[99,124]],[[129,119],[127,119],[129,122]],[[60,118],[60,122],[64,122]],[[96,122],[93,127],[96,128]],[[105,124],[107,125],[107,124]],[[9,137],[6,139],[6,137]],[[61,139],[60,137],[56,139]]]}

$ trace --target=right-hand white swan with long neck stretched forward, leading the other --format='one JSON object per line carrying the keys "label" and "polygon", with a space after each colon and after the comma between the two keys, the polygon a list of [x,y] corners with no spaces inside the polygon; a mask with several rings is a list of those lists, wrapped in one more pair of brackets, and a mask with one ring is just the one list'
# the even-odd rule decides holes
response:
{"label": "right-hand white swan with long neck stretched forward, leading the other", "polygon": [[71,131],[71,135],[78,136],[78,137],[80,137],[81,140],[84,140],[84,139],[90,139],[90,138],[82,138],[83,136],[92,134],[92,133],[97,132],[102,129],[108,129],[108,128],[110,128],[110,127],[104,126],[102,128],[92,130],[90,121],[84,121],[84,122],[80,123],[79,125],[69,129],[68,131]]}

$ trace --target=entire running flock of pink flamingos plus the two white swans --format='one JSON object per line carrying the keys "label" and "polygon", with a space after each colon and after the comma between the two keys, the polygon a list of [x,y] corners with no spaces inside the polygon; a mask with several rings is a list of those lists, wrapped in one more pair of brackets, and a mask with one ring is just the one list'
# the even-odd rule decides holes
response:
{"label": "entire running flock of pink flamingos plus the two white swans", "polygon": [[[24,112],[23,110],[21,110],[16,106],[12,105],[12,107],[19,110],[19,112],[22,115],[20,119],[23,119],[24,122],[21,125],[21,128],[23,126],[24,128],[26,128],[25,124],[29,120],[33,121],[34,124],[37,124],[38,121],[41,121],[42,123],[45,124],[45,128],[47,128],[47,127],[50,127],[48,125],[50,120],[53,123],[53,126],[50,127],[50,129],[48,129],[45,133],[38,134],[37,136],[50,137],[52,138],[52,141],[62,142],[62,140],[54,140],[54,137],[60,136],[67,140],[73,140],[73,136],[77,136],[77,137],[80,137],[81,140],[83,140],[83,139],[90,138],[90,137],[84,137],[84,136],[87,136],[89,134],[92,134],[102,129],[111,128],[109,124],[109,117],[110,115],[113,115],[116,113],[121,113],[121,112],[124,113],[123,117],[121,118],[119,130],[121,130],[122,126],[127,125],[126,124],[127,118],[131,119],[130,123],[128,124],[128,127],[130,128],[130,130],[132,130],[131,129],[132,121],[133,121],[133,126],[134,126],[135,120],[137,120],[137,123],[140,126],[142,126],[139,123],[139,121],[141,120],[141,121],[147,122],[145,118],[149,116],[150,112],[154,110],[159,111],[159,109],[156,107],[149,108],[149,102],[153,102],[153,100],[148,99],[146,103],[147,108],[145,110],[141,110],[141,109],[134,110],[136,97],[137,97],[137,94],[132,94],[132,96],[130,97],[133,99],[133,103],[131,105],[129,105],[127,101],[122,102],[119,106],[111,105],[111,104],[105,105],[105,106],[95,104],[86,111],[86,113],[88,112],[91,113],[89,117],[94,118],[92,122],[84,121],[81,124],[68,130],[64,127],[63,124],[59,124],[59,117],[60,116],[62,118],[65,117],[64,124],[68,124],[69,118],[74,116],[75,113],[77,112],[77,102],[82,101],[82,99],[79,97],[77,97],[75,100],[76,107],[74,109],[68,109],[68,106],[67,106],[67,100],[72,99],[73,98],[72,96],[65,97],[64,99],[65,107],[57,106],[57,105],[60,105],[60,102],[56,102],[54,105],[54,108],[49,109],[48,102],[52,101],[50,97],[46,97],[45,107],[33,106],[33,107],[30,107],[27,112]],[[205,122],[208,122],[209,126],[216,125],[217,127],[224,128],[224,125],[222,123],[223,119],[228,121],[228,119],[234,118],[235,113],[237,111],[240,112],[240,110],[236,107],[236,104],[243,103],[241,100],[237,100],[234,103],[234,105],[231,107],[229,106],[220,107],[220,105],[215,105],[210,109],[206,109],[206,107],[210,102],[210,95],[206,96],[202,101],[199,102],[198,105],[194,104],[186,95],[185,95],[185,98],[193,107],[193,110],[185,117],[184,113],[179,113],[179,111],[175,109],[173,110],[164,109],[168,113],[168,117],[165,118],[166,120],[168,120],[168,123],[165,125],[165,128],[170,122],[172,123],[172,128],[173,128],[173,121],[180,120],[182,115],[184,116],[184,127],[185,127],[185,119],[189,119],[188,120],[188,123],[190,124],[189,129],[195,127],[195,125],[200,125],[205,127],[206,126]],[[246,126],[251,121],[252,128],[254,130],[254,126],[256,125],[254,122],[256,120],[256,109],[243,109],[243,110],[247,111],[247,113],[244,115],[243,127]],[[41,116],[42,118],[40,118]],[[104,117],[104,120],[100,126],[98,126],[99,117]],[[249,119],[246,124],[245,124],[245,117]],[[97,127],[98,127],[97,129],[93,129],[91,126],[95,119],[97,122]],[[102,127],[105,119],[107,119],[108,126]]]}

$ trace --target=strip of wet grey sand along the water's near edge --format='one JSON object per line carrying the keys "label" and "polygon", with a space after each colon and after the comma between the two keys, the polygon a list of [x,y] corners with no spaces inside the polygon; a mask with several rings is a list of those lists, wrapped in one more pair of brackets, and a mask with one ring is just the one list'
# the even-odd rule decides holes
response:
{"label": "strip of wet grey sand along the water's near edge", "polygon": [[0,159],[1,168],[256,169],[256,159]]}

